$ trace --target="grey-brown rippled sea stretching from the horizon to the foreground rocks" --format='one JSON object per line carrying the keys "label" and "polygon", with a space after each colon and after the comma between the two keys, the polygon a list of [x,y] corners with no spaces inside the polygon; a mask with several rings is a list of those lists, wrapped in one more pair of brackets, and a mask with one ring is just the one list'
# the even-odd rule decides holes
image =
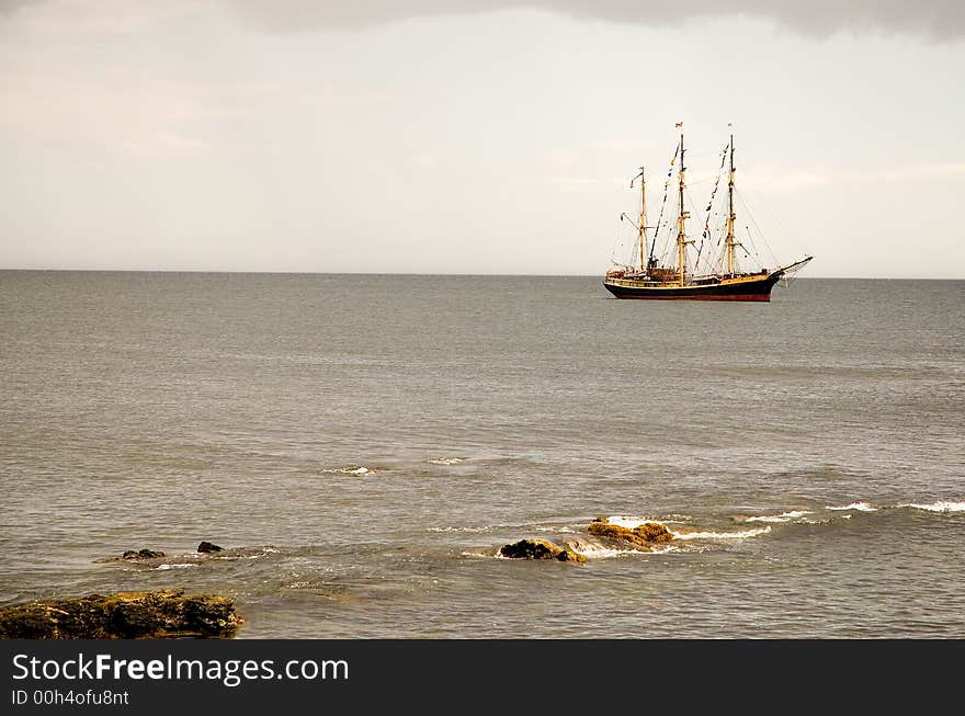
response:
{"label": "grey-brown rippled sea stretching from the horizon to the foreground rocks", "polygon": [[[965,637],[965,282],[8,271],[0,339],[0,605],[181,587],[253,639]],[[677,538],[614,549],[604,515]],[[524,537],[588,560],[497,556]],[[140,548],[167,556],[111,560]]]}

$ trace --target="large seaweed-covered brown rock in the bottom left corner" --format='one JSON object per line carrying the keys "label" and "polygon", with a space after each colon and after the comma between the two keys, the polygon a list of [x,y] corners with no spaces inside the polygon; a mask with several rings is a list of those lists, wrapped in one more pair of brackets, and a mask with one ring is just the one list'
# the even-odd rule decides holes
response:
{"label": "large seaweed-covered brown rock in the bottom left corner", "polygon": [[159,639],[228,637],[245,623],[226,596],[183,589],[91,594],[0,609],[4,639]]}

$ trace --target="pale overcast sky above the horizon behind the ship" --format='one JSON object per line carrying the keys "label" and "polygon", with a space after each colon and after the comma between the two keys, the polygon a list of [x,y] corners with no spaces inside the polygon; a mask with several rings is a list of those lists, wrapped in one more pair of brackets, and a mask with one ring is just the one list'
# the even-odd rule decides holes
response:
{"label": "pale overcast sky above the horizon behind the ship", "polygon": [[965,279],[963,69],[960,0],[0,0],[0,269],[600,275],[682,122],[771,265]]}

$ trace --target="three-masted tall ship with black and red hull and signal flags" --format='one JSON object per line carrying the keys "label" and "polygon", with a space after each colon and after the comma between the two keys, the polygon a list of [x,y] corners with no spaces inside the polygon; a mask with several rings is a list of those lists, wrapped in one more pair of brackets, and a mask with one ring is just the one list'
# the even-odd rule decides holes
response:
{"label": "three-masted tall ship with black and red hull and signal flags", "polygon": [[[640,167],[639,173],[631,181],[633,187],[634,182],[640,180],[639,223],[621,214],[621,220],[628,220],[636,228],[635,261],[624,264],[614,261],[615,268],[606,272],[603,286],[617,298],[770,300],[774,284],[801,271],[814,257],[767,269],[748,251],[746,242],[738,240],[734,206],[733,133],[722,152],[720,168],[707,202],[703,232],[689,235],[688,219],[691,213],[685,204],[683,124],[678,123],[677,127],[680,129],[680,140],[667,173],[659,218],[652,226],[647,224],[647,183],[644,168]],[[674,167],[677,185],[671,191]],[[720,207],[715,198],[725,169],[727,197],[726,205]],[[671,197],[672,208],[665,220],[668,197]],[[717,211],[713,213],[715,206]],[[712,227],[714,217],[722,220]],[[750,263],[756,265],[750,266]]]}

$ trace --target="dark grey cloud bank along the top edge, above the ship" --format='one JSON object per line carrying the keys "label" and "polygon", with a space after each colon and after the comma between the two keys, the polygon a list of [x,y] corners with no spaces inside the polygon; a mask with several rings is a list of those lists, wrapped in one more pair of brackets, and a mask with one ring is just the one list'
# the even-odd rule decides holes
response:
{"label": "dark grey cloud bank along the top edge, above the ship", "polygon": [[688,20],[750,18],[809,36],[839,32],[907,34],[932,39],[965,36],[961,0],[223,0],[247,22],[269,32],[362,30],[432,15],[540,10],[581,20],[647,26]]}

